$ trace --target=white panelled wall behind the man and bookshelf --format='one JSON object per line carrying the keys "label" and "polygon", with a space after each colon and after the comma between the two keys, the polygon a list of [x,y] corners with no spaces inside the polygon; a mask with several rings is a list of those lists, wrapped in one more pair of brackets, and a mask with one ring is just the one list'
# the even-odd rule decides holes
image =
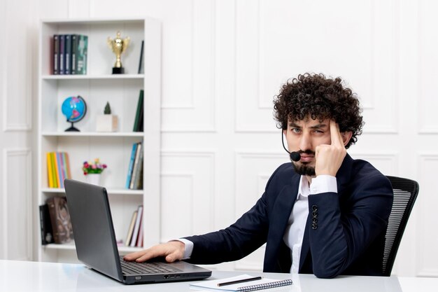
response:
{"label": "white panelled wall behind the man and bookshelf", "polygon": [[[163,241],[224,228],[260,197],[271,172],[287,161],[272,98],[288,78],[323,72],[343,77],[364,106],[364,134],[351,155],[420,183],[393,272],[438,277],[436,1],[7,0],[0,9],[3,36],[14,40],[0,46],[9,60],[0,70],[3,153],[30,149],[20,156],[23,165],[36,155],[28,141],[35,127],[22,114],[30,109],[21,105],[36,98],[38,18],[151,16],[162,20],[163,34]],[[15,123],[24,125],[24,140],[6,131]],[[5,142],[10,137],[15,144]],[[3,186],[22,181],[4,167],[0,174]],[[0,188],[3,202],[11,193],[30,200],[29,182],[9,188]],[[169,221],[175,214],[178,225]],[[11,221],[0,217],[0,235],[22,238],[6,228]],[[10,248],[0,244],[0,257]],[[220,267],[260,269],[262,250]]]}

